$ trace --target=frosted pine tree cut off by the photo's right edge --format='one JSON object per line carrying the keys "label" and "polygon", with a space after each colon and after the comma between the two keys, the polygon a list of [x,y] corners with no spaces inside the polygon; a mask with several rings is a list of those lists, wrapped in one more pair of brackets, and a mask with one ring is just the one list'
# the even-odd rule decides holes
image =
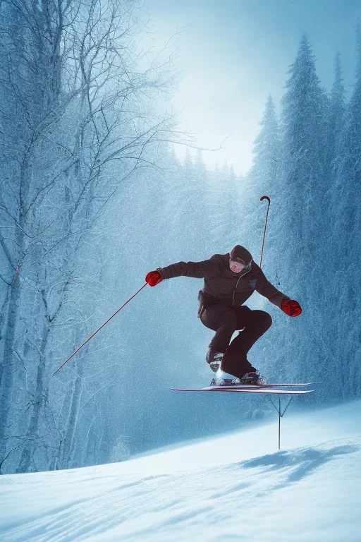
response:
{"label": "frosted pine tree cut off by the photo's right edge", "polygon": [[[332,275],[338,303],[334,306],[334,357],[342,364],[344,397],[360,395],[361,288],[361,26],[357,23],[357,64],[353,95],[346,107],[335,161],[331,200],[334,226]],[[339,386],[340,387],[340,386]]]}

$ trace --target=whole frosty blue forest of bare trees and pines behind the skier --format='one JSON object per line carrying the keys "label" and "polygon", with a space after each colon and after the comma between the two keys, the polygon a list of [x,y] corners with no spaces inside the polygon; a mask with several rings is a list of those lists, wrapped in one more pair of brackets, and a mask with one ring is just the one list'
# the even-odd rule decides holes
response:
{"label": "whole frosty blue forest of bare trees and pines behind the skier", "polygon": [[262,267],[303,313],[255,294],[273,325],[250,361],[270,380],[322,382],[309,404],[360,397],[360,27],[348,103],[340,56],[328,92],[302,36],[243,178],[200,151],[176,158],[157,107],[171,59],[138,49],[135,2],[6,0],[0,15],[0,472],[120,461],[267,415],[257,397],[167,390],[212,376],[188,277],[143,290],[52,376],[148,271],[236,243],[259,262],[263,194]]}

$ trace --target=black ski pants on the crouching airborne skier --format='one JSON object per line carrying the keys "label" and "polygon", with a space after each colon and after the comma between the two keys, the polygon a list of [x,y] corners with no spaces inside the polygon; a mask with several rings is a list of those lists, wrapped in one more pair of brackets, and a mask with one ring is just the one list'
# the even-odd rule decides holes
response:
{"label": "black ski pants on the crouching airborne skier", "polygon": [[[265,311],[252,311],[243,305],[232,307],[221,303],[206,308],[201,316],[202,324],[214,330],[209,348],[224,352],[222,370],[242,378],[245,373],[255,371],[247,361],[247,353],[257,339],[271,327],[272,318]],[[230,344],[233,333],[242,330]]]}

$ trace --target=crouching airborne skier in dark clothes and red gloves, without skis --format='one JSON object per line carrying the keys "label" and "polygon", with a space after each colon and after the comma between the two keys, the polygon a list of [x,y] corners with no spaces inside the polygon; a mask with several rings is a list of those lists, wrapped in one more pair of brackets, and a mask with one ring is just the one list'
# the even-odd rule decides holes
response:
{"label": "crouching airborne skier in dark clothes and red gloves, without skis", "polygon": [[[298,316],[302,308],[276,289],[253,261],[247,248],[236,245],[230,253],[214,254],[201,262],[179,262],[158,267],[145,277],[149,286],[173,277],[203,278],[204,286],[198,294],[198,318],[214,330],[206,361],[216,373],[219,368],[226,375],[212,380],[212,384],[257,384],[259,372],[247,360],[247,353],[257,339],[266,332],[272,318],[265,311],[252,311],[243,305],[254,291],[267,297],[288,316]],[[233,333],[239,333],[230,344]]]}

